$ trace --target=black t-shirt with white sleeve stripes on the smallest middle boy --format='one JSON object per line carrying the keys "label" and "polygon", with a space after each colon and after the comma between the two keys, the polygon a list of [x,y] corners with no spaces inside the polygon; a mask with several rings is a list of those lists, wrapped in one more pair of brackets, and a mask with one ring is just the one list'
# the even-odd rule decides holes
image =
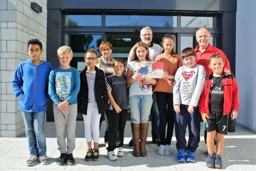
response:
{"label": "black t-shirt with white sleeve stripes on the smallest middle boy", "polygon": [[[107,78],[107,83],[107,89],[111,91],[116,104],[118,104],[121,109],[128,109],[126,77],[124,75],[120,77],[111,75]],[[114,107],[109,102],[109,110],[113,109]]]}

